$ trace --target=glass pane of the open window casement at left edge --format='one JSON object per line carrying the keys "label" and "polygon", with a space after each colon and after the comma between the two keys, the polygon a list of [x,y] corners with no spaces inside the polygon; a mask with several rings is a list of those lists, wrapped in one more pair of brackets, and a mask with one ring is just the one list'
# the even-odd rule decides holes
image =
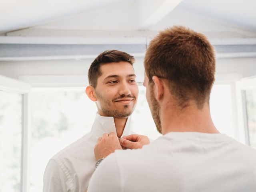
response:
{"label": "glass pane of the open window casement at left edge", "polygon": [[0,191],[19,192],[22,95],[0,91]]}

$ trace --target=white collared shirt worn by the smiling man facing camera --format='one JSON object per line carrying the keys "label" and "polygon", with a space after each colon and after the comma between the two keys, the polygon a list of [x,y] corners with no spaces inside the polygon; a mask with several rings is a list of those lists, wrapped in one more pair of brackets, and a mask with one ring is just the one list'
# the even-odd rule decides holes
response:
{"label": "white collared shirt worn by the smiling man facing camera", "polygon": [[[133,134],[129,117],[122,136]],[[52,157],[44,172],[43,192],[85,192],[95,167],[94,146],[104,133],[116,132],[114,118],[96,115],[92,130]]]}

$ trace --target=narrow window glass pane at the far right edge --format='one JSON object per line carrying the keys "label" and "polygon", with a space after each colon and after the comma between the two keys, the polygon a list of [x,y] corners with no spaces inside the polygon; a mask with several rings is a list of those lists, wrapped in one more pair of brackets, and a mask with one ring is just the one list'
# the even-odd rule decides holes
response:
{"label": "narrow window glass pane at the far right edge", "polygon": [[249,144],[256,148],[256,90],[246,90]]}

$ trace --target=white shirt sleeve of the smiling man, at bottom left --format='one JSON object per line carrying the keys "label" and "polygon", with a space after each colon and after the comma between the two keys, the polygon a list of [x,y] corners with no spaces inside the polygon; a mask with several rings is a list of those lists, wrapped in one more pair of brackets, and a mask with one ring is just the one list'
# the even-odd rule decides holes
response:
{"label": "white shirt sleeve of the smiling man, at bottom left", "polygon": [[72,192],[70,181],[55,160],[50,160],[44,171],[43,192]]}

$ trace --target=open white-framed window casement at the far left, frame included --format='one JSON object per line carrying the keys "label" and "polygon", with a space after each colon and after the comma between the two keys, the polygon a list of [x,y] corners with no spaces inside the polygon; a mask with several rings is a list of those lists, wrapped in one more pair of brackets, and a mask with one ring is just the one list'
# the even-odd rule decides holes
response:
{"label": "open white-framed window casement at the far left, frame included", "polygon": [[0,191],[28,191],[29,92],[28,84],[0,75]]}

